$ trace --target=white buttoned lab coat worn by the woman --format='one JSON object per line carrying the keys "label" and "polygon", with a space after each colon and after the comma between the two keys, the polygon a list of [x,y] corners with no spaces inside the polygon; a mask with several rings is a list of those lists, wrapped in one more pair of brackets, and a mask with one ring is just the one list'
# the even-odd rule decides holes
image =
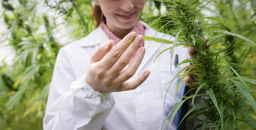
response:
{"label": "white buttoned lab coat worn by the woman", "polygon": [[[141,21],[142,22],[142,21]],[[156,31],[142,22],[146,27],[145,36],[154,36]],[[163,33],[155,37],[162,38]],[[169,40],[169,37],[165,37]],[[174,94],[180,78],[175,79],[164,98],[168,85],[164,86],[182,69],[179,66],[171,75],[170,54],[164,49],[172,45],[144,41],[146,54],[135,75],[137,78],[144,70],[151,74],[135,90],[101,93],[95,91],[84,80],[90,57],[100,44],[107,42],[101,27],[88,36],[61,48],[57,56],[46,105],[43,128],[72,130],[156,130],[161,129],[165,115],[174,107]],[[174,40],[173,38],[171,40]],[[187,48],[175,47],[172,71],[175,69],[175,55],[178,62],[188,58]],[[155,60],[155,62],[154,62]],[[154,62],[154,63],[153,63]],[[182,96],[185,83],[180,85],[177,96]],[[181,98],[176,98],[175,104]],[[169,118],[168,118],[169,119]],[[178,113],[170,129],[176,129]],[[167,120],[168,121],[168,120]],[[167,122],[163,129],[166,129]]]}

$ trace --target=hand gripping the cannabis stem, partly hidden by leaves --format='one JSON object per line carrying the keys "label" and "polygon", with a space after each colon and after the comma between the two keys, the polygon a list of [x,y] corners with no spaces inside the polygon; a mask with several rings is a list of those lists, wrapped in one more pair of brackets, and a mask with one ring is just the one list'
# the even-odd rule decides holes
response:
{"label": "hand gripping the cannabis stem, partly hidden by leaves", "polygon": [[[206,39],[206,38],[207,38],[207,36],[204,36],[204,39]],[[209,43],[207,42],[205,47],[208,46],[208,45],[209,45]],[[211,51],[210,47],[208,49]],[[194,55],[194,54],[196,54],[195,49],[193,47],[189,47],[188,48],[188,55],[189,55],[189,57],[192,58],[192,55]],[[189,64],[185,64],[183,66],[183,68],[185,68],[187,66],[189,66]],[[193,71],[195,69],[196,68],[192,68],[190,71]],[[193,74],[184,75],[188,70],[189,70],[189,68],[186,68],[184,71],[182,71],[182,73],[180,73],[180,77],[185,76],[183,81],[190,87],[190,86],[192,86],[192,83],[198,82],[197,80],[195,80],[198,77],[196,75],[193,75]],[[192,88],[195,88],[195,87],[198,87],[198,86],[193,86]]]}

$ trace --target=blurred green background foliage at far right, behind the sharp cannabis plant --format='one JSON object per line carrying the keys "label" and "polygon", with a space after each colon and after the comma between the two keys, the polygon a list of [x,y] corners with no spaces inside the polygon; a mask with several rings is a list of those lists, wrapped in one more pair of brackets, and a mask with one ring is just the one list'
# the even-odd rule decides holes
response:
{"label": "blurred green background foliage at far right, behind the sharp cannabis plant", "polygon": [[[217,1],[212,0],[210,2],[214,10],[220,14],[223,20],[228,23],[232,28],[235,28],[234,31],[242,36],[245,36],[251,39],[256,43],[256,0],[223,0]],[[225,27],[221,24],[217,24],[216,28],[223,28],[224,30],[229,30],[228,27]],[[212,35],[214,36],[214,35]],[[211,37],[211,36],[210,36]],[[227,49],[227,56],[225,56],[226,60],[232,63],[236,63],[242,65],[244,67],[250,68],[245,69],[240,66],[232,65],[232,67],[239,73],[242,77],[248,77],[252,79],[256,79],[256,47],[249,42],[246,42],[242,39],[235,38],[234,36],[228,35],[223,37],[218,44],[216,44],[213,49],[218,51],[228,47],[231,43],[233,43]],[[233,52],[232,52],[233,51]],[[231,53],[229,53],[231,52]],[[227,66],[225,66],[227,67]],[[231,72],[231,69],[230,69]],[[233,74],[234,76],[234,74]],[[248,86],[251,89],[255,89],[255,85],[248,83]],[[252,94],[255,94],[253,92]],[[253,95],[254,99],[256,96]],[[251,115],[254,119],[256,119],[256,114],[254,111],[245,111],[249,115]],[[243,116],[237,117],[238,119],[242,119],[244,121],[248,121]],[[243,124],[243,125],[240,125]],[[233,129],[256,129],[253,126],[249,126],[240,121],[234,122]]]}

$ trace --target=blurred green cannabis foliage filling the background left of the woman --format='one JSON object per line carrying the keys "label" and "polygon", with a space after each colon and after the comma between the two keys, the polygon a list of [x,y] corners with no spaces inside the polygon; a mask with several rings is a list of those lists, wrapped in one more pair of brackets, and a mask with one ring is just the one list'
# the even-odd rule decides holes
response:
{"label": "blurred green cannabis foliage filling the background left of the woman", "polygon": [[15,55],[0,61],[0,130],[40,130],[59,49],[94,28],[91,0],[3,0],[0,20]]}

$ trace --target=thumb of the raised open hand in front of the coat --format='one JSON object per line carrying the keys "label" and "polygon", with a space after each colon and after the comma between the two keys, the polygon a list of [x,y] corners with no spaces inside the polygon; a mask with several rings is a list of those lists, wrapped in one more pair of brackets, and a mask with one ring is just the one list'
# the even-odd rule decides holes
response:
{"label": "thumb of the raised open hand in front of the coat", "polygon": [[105,44],[101,44],[97,50],[92,53],[90,64],[100,61],[112,49],[113,45],[113,40],[109,40]]}

